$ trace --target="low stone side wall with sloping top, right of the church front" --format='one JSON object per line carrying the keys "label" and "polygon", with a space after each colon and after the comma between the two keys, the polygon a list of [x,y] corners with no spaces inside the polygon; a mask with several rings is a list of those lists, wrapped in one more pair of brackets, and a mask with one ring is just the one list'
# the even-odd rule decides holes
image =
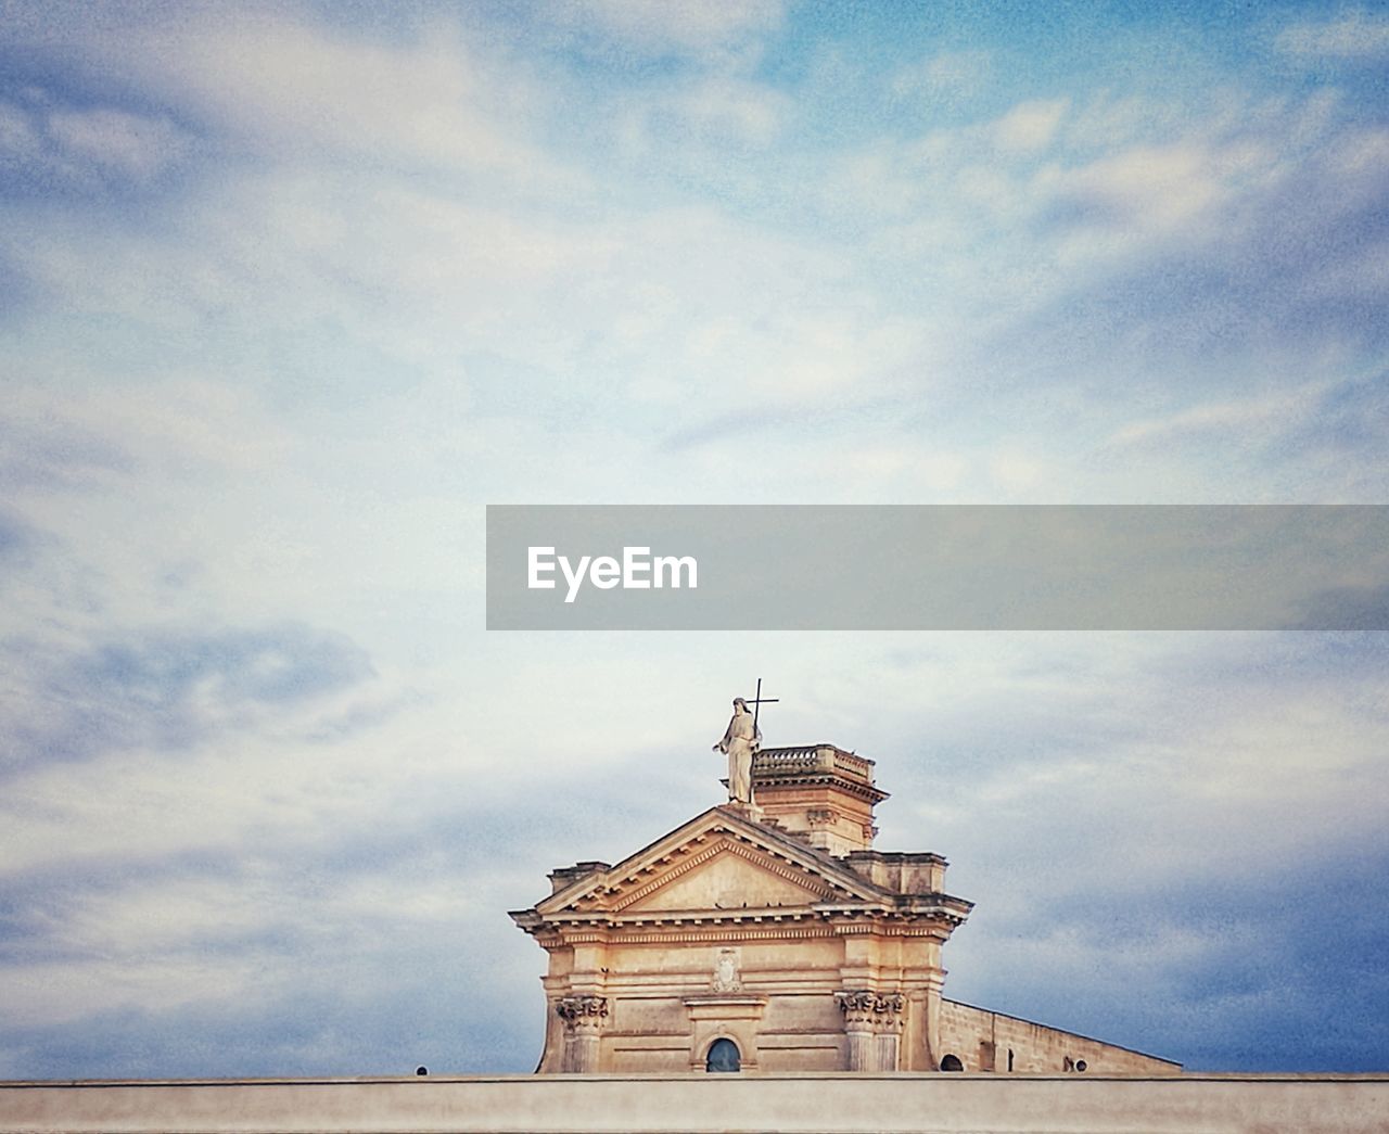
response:
{"label": "low stone side wall with sloping top, right of the church front", "polygon": [[1176,1074],[1157,1056],[1104,1044],[1075,1033],[940,1001],[942,1059],[954,1055],[965,1071],[1007,1074]]}

